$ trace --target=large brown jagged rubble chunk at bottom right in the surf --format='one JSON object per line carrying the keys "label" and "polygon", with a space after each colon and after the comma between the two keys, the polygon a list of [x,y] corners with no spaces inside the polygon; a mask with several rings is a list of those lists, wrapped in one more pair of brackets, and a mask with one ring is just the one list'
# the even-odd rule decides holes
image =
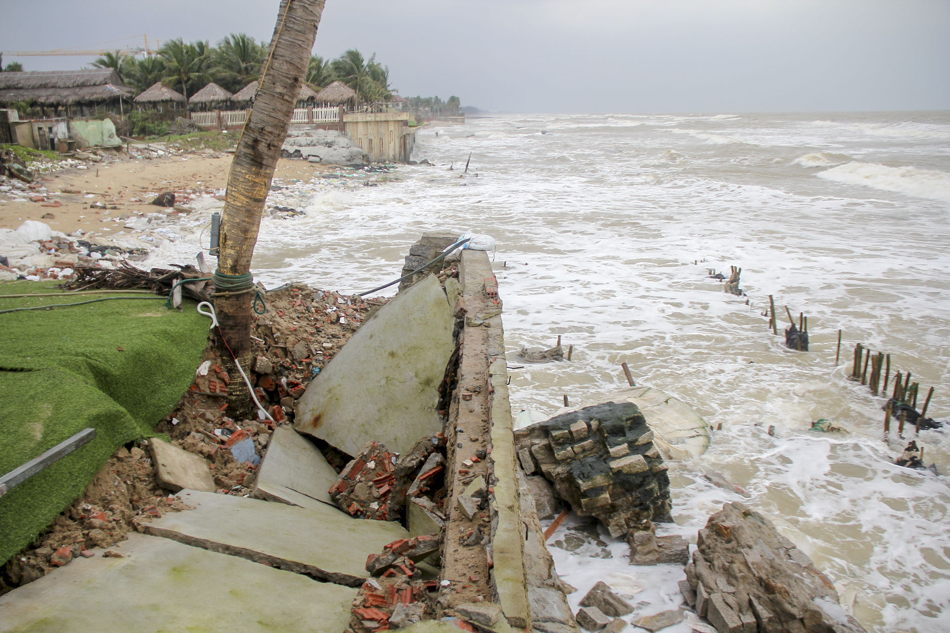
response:
{"label": "large brown jagged rubble chunk at bottom right in the surf", "polygon": [[864,631],[806,553],[743,504],[713,514],[696,546],[681,588],[720,633]]}

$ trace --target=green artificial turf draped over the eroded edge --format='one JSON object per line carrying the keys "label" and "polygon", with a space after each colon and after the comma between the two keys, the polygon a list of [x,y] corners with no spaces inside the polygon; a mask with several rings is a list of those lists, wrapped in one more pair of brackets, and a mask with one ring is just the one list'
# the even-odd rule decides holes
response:
{"label": "green artificial turf draped over the eroded edge", "polygon": [[[116,296],[3,297],[44,291],[61,290],[0,283],[0,310]],[[94,440],[0,497],[0,564],[45,531],[120,445],[154,435],[178,403],[209,324],[194,302],[182,307],[120,299],[0,314],[0,474],[96,429]]]}

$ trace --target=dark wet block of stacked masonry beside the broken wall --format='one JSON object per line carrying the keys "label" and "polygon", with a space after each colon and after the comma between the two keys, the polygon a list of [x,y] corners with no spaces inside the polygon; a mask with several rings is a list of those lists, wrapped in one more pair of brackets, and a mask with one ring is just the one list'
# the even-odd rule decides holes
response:
{"label": "dark wet block of stacked masonry beside the broken wall", "polygon": [[574,512],[614,537],[670,522],[670,479],[636,404],[606,402],[515,431],[519,461],[541,472]]}

